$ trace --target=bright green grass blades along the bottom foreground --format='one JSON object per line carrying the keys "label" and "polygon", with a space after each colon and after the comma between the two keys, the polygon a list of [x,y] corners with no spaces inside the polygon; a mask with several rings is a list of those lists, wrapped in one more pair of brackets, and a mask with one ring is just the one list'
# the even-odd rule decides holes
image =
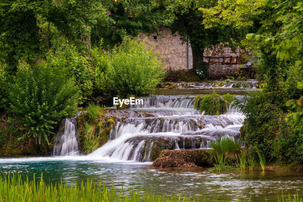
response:
{"label": "bright green grass blades along the bottom foreground", "polygon": [[[35,181],[35,175],[33,180],[28,180],[26,176],[25,180],[22,180],[20,175],[8,175],[7,177],[0,176],[0,201],[4,202],[18,202],[18,201],[44,201],[44,202],[57,202],[57,201],[114,201],[114,202],[190,202],[190,201],[207,201],[205,196],[198,196],[197,198],[188,198],[183,194],[172,194],[170,197],[165,195],[154,194],[141,194],[129,190],[124,192],[123,188],[117,190],[113,188],[107,188],[101,185],[93,185],[92,180],[87,180],[87,183],[45,183],[42,178],[40,181]],[[223,200],[222,200],[223,201]],[[237,202],[250,201],[250,198],[238,198]],[[260,200],[262,201],[262,200]],[[265,200],[266,201],[266,200]],[[294,195],[278,196],[278,202],[301,202],[299,199],[298,191]]]}

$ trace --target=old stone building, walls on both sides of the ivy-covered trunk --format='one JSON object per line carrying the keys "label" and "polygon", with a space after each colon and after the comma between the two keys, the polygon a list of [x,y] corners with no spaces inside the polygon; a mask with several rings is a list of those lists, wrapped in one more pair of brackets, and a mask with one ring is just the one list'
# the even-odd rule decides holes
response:
{"label": "old stone building, walls on both sides of the ivy-covered trunk", "polygon": [[[160,27],[161,35],[141,34],[140,39],[145,39],[147,45],[155,45],[155,49],[162,55],[165,69],[170,71],[185,70],[192,68],[192,52],[190,46],[182,44],[179,35],[172,35],[165,27]],[[240,48],[234,51],[224,44],[219,44],[212,49],[205,49],[204,56],[239,56]],[[211,65],[209,73],[211,78],[235,75],[239,71],[239,65]]]}

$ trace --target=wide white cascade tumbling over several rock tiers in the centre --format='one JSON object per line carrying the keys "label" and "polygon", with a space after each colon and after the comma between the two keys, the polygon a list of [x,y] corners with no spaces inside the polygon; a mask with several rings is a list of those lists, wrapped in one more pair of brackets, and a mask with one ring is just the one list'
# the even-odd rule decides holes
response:
{"label": "wide white cascade tumbling over several rock tiers in the centre", "polygon": [[[145,162],[155,159],[162,149],[209,148],[210,141],[221,137],[239,139],[243,117],[231,107],[228,116],[205,115],[200,120],[201,112],[193,106],[195,96],[143,99],[143,105],[130,105],[129,116],[115,121],[110,140],[88,156]],[[138,110],[151,117],[132,117]]]}

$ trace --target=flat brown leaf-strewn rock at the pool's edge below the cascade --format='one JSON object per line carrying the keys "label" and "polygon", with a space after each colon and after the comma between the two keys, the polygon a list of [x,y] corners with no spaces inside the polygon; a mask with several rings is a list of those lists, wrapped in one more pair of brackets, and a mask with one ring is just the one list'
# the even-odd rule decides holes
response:
{"label": "flat brown leaf-strewn rock at the pool's edge below the cascade", "polygon": [[163,150],[150,167],[202,167],[209,166],[207,150]]}

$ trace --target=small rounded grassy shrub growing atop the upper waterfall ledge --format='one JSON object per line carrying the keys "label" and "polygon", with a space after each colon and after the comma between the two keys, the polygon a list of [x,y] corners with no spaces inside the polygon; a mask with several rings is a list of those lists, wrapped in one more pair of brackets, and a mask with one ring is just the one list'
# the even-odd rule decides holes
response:
{"label": "small rounded grassy shrub growing atop the upper waterfall ledge", "polygon": [[201,100],[200,110],[205,111],[205,115],[219,115],[225,102],[213,91],[212,94],[205,95]]}

